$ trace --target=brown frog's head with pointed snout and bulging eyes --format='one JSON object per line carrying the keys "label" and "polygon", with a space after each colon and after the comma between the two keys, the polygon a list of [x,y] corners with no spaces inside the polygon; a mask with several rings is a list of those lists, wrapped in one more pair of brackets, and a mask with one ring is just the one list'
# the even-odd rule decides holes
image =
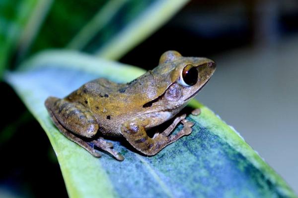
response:
{"label": "brown frog's head with pointed snout and bulging eyes", "polygon": [[163,90],[153,106],[159,106],[158,109],[161,106],[163,109],[183,107],[204,87],[215,69],[215,62],[208,58],[183,57],[177,51],[164,52],[159,66],[152,70],[159,76]]}

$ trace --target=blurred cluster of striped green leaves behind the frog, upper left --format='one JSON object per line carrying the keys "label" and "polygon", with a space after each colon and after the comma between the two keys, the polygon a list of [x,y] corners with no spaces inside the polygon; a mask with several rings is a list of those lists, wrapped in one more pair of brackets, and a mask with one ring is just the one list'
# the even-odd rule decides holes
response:
{"label": "blurred cluster of striped green leaves behind the frog, upper left", "polygon": [[188,0],[1,0],[0,75],[47,48],[118,59]]}

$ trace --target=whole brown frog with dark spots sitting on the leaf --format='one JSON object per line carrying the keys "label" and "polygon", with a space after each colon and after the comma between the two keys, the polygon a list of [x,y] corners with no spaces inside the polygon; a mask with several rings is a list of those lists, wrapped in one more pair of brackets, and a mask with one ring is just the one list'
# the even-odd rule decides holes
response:
{"label": "whole brown frog with dark spots sitting on the leaf", "polygon": [[[154,69],[131,82],[98,78],[65,98],[48,97],[45,106],[59,131],[94,157],[101,157],[101,149],[124,160],[106,137],[124,138],[137,151],[151,156],[191,134],[193,123],[185,119],[186,114],[178,113],[206,85],[215,69],[216,63],[209,58],[184,57],[169,50]],[[156,129],[153,136],[148,135],[149,130],[169,120],[173,121],[164,131]],[[183,128],[171,134],[179,123]]]}

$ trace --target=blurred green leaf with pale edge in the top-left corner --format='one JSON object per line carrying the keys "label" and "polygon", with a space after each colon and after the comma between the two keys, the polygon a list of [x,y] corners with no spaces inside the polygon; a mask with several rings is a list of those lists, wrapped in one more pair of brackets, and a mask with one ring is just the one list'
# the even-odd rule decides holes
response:
{"label": "blurred green leaf with pale edge in the top-left corner", "polygon": [[51,1],[0,1],[0,77],[14,50],[28,48]]}

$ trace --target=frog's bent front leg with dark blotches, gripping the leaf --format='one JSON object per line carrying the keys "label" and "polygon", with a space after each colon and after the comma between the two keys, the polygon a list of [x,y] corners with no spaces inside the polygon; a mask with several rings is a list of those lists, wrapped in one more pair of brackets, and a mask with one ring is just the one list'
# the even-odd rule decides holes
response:
{"label": "frog's bent front leg with dark blotches, gripping the leaf", "polygon": [[[125,122],[121,127],[122,135],[126,140],[136,149],[147,155],[154,155],[159,152],[165,146],[175,142],[179,138],[185,135],[189,135],[192,131],[191,122],[185,120],[186,115],[183,114],[177,117],[173,123],[162,133],[155,134],[153,138],[150,138],[145,130],[146,121],[140,118],[134,118]],[[176,125],[182,121],[184,128],[175,135],[169,134],[174,130]]]}

